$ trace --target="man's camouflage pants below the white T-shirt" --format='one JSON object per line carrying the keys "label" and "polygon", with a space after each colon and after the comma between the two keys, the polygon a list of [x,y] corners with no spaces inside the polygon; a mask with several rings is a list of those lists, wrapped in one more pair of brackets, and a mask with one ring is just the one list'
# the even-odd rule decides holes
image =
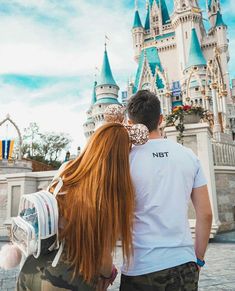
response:
{"label": "man's camouflage pants below the white T-shirt", "polygon": [[174,268],[141,276],[121,277],[120,291],[196,291],[199,271],[189,262]]}

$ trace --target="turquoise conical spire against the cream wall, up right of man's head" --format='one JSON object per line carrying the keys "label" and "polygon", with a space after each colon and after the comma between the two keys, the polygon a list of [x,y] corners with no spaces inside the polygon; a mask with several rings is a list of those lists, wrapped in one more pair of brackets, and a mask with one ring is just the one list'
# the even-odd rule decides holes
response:
{"label": "turquoise conical spire against the cream wall, up right of man's head", "polygon": [[189,58],[187,68],[192,66],[202,66],[206,65],[206,59],[202,53],[201,45],[198,40],[196,29],[192,29],[191,34],[191,45],[189,51]]}

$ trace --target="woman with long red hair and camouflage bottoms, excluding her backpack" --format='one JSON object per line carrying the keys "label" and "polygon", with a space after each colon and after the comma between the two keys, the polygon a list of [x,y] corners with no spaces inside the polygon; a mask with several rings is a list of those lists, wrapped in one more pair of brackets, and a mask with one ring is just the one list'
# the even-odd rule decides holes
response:
{"label": "woman with long red hair and camouflage bottoms, excluding her backpack", "polygon": [[51,264],[56,251],[29,257],[18,291],[106,290],[111,254],[120,237],[123,256],[130,259],[134,191],[129,143],[122,124],[108,123],[94,133],[83,154],[68,163],[60,174],[64,194],[57,196],[63,254],[55,268]]}

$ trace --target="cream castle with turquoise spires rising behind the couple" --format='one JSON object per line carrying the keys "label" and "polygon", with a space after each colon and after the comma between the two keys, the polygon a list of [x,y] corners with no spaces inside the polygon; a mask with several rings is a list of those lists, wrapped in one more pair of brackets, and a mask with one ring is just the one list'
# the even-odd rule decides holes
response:
{"label": "cream castle with turquoise spires rising behind the couple", "polygon": [[[208,0],[208,31],[197,0],[174,0],[171,16],[165,0],[147,0],[146,4],[144,25],[137,1],[135,5],[132,36],[138,68],[134,82],[129,83],[128,97],[140,89],[154,91],[164,115],[177,105],[200,105],[213,113],[214,137],[222,140],[225,133],[235,139],[235,80],[231,88],[227,25],[220,1]],[[84,123],[87,138],[103,123],[104,109],[119,103],[118,91],[105,48]]]}

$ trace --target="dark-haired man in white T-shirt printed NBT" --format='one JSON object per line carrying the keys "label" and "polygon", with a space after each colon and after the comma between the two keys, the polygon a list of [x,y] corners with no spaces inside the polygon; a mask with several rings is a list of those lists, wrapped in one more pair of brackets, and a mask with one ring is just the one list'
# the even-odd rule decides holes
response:
{"label": "dark-haired man in white T-shirt printed NBT", "polygon": [[[198,289],[212,212],[197,156],[163,139],[160,101],[149,91],[128,102],[130,122],[145,124],[149,141],[132,149],[130,167],[136,190],[133,260],[122,267],[121,291]],[[188,223],[188,204],[196,212],[195,244]]]}

